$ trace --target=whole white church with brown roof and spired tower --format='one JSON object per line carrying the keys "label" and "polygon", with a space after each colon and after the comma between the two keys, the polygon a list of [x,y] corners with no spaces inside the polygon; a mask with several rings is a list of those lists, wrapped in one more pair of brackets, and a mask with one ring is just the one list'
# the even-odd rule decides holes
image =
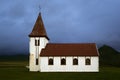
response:
{"label": "whole white church with brown roof and spired tower", "polygon": [[41,13],[29,34],[29,71],[99,72],[95,43],[49,43]]}

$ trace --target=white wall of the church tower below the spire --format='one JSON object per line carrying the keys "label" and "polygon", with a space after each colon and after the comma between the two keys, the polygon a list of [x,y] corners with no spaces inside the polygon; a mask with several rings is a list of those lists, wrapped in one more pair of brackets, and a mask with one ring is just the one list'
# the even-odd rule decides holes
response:
{"label": "white wall of the church tower below the spire", "polygon": [[[40,45],[35,46],[35,40],[39,40]],[[39,58],[42,48],[45,48],[48,40],[44,37],[30,37],[30,56],[29,56],[29,68],[30,71],[39,71],[39,63],[36,65],[36,59]]]}

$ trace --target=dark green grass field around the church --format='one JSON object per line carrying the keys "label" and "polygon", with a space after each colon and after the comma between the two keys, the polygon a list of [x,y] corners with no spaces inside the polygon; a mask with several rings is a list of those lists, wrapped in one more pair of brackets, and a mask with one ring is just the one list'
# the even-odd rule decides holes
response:
{"label": "dark green grass field around the church", "polygon": [[100,67],[99,73],[29,72],[24,61],[0,62],[0,80],[120,80],[119,67]]}

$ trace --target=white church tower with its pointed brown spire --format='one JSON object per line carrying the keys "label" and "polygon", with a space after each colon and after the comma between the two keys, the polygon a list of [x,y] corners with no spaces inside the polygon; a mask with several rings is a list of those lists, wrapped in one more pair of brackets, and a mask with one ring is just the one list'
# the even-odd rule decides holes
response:
{"label": "white church tower with its pointed brown spire", "polygon": [[33,27],[32,32],[29,34],[29,70],[40,71],[40,53],[46,44],[49,42],[41,13],[39,13],[36,23]]}

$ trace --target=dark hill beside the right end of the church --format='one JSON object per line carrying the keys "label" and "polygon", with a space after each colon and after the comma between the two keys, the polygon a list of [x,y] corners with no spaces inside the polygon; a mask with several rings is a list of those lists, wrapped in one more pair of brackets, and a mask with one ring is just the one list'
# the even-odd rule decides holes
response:
{"label": "dark hill beside the right end of the church", "polygon": [[120,53],[114,48],[103,45],[99,48],[100,65],[120,66]]}

